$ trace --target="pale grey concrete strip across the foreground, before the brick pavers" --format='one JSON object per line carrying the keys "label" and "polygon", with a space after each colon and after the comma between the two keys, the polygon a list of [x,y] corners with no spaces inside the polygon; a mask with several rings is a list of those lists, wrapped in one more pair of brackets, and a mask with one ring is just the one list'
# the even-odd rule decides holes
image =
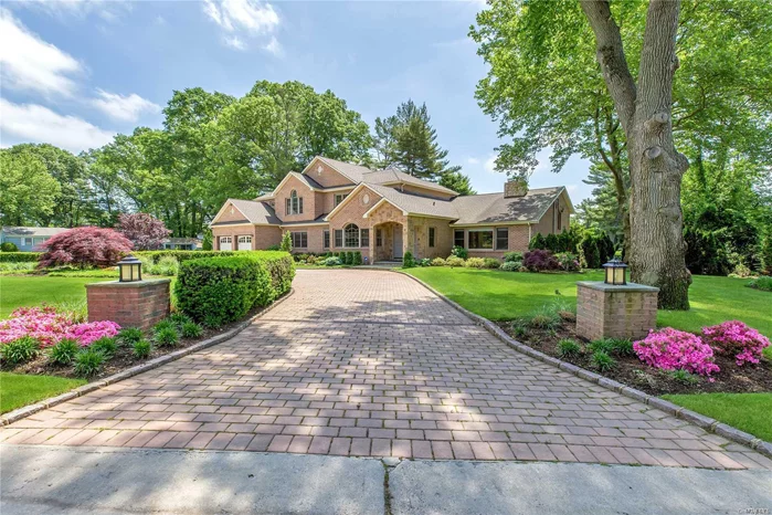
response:
{"label": "pale grey concrete strip across the foreground, before the brick pavers", "polygon": [[772,472],[0,446],[2,515],[148,512],[761,514]]}

